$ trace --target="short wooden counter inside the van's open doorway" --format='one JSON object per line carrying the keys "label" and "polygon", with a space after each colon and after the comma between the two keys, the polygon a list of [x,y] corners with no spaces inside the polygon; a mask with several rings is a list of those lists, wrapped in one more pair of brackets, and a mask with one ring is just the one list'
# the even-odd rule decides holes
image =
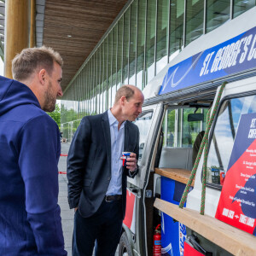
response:
{"label": "short wooden counter inside the van's open doorway", "polygon": [[[184,184],[188,183],[189,177],[191,175],[191,171],[178,168],[155,168],[154,172],[161,176],[172,178],[173,180]],[[191,184],[191,186],[193,187],[194,182],[195,181],[193,181],[193,183]]]}

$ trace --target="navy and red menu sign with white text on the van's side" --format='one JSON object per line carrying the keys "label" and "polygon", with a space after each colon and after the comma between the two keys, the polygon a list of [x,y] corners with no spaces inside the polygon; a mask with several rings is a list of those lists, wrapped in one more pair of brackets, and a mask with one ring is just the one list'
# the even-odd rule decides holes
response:
{"label": "navy and red menu sign with white text on the van's side", "polygon": [[256,235],[256,113],[241,115],[215,217]]}

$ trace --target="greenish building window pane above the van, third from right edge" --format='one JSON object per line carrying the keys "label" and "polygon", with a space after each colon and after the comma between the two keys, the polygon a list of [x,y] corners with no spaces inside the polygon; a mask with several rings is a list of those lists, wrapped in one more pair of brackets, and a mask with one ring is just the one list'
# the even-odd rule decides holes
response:
{"label": "greenish building window pane above the van, third from right edge", "polygon": [[187,0],[186,45],[203,34],[204,0]]}

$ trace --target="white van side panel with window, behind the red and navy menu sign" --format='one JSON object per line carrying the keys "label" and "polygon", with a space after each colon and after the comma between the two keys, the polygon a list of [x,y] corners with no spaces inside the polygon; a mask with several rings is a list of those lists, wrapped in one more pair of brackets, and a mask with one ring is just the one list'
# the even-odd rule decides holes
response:
{"label": "white van side panel with window, behind the red and navy menu sign", "polygon": [[[213,218],[215,218],[218,208],[218,201],[224,185],[225,175],[229,170],[230,156],[234,150],[234,143],[241,117],[256,113],[255,83],[256,78],[250,78],[227,84],[212,123],[209,133],[207,158],[205,214]],[[245,142],[241,143],[239,150],[242,151],[245,145]],[[187,200],[187,207],[195,211],[200,211],[201,205],[202,162],[203,160],[201,159],[195,177],[195,187],[189,193]],[[234,216],[238,216],[238,214],[235,212]],[[191,236],[196,236],[199,245],[211,252],[212,255],[231,255],[223,248],[216,246],[199,234],[195,234],[194,231],[190,230],[189,233]]]}

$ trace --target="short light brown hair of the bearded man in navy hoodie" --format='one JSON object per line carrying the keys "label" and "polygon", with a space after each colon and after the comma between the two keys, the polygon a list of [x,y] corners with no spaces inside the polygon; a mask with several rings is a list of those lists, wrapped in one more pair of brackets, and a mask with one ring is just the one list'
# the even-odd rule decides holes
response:
{"label": "short light brown hair of the bearded man in navy hoodie", "polygon": [[12,61],[13,77],[18,81],[25,80],[39,68],[44,68],[51,75],[54,62],[61,67],[63,65],[61,55],[50,47],[22,49]]}

